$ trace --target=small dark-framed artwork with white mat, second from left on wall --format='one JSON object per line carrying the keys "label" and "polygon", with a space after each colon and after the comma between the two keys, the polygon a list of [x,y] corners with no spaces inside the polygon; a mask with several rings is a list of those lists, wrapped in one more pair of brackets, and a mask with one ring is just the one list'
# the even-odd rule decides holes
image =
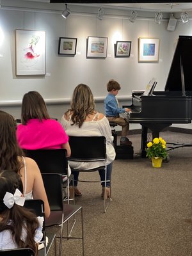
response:
{"label": "small dark-framed artwork with white mat, second from left on wall", "polygon": [[77,38],[60,37],[58,54],[76,55]]}

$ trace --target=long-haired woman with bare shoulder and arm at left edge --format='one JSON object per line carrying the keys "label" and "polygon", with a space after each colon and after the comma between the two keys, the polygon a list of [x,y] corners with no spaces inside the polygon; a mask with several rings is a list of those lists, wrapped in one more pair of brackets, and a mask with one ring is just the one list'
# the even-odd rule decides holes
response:
{"label": "long-haired woman with bare shoulder and arm at left edge", "polygon": [[24,157],[17,143],[16,128],[13,116],[0,111],[0,172],[2,170],[17,172],[21,177],[26,199],[42,199],[45,205],[45,216],[49,217],[50,207],[42,175],[35,161]]}

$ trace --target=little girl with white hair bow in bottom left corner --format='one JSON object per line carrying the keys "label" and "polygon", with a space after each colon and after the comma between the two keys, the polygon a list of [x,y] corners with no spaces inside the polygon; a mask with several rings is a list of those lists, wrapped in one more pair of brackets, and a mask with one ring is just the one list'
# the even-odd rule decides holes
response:
{"label": "little girl with white hair bow in bottom left corner", "polygon": [[31,248],[38,254],[43,237],[44,218],[22,207],[23,186],[20,175],[12,170],[0,172],[0,250]]}

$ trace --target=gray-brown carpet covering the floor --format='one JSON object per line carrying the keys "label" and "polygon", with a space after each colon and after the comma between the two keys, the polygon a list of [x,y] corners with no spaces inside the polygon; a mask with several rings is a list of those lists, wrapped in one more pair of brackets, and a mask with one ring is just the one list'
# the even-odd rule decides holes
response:
{"label": "gray-brown carpet covering the floor", "polygon": [[[162,132],[161,137],[192,142],[191,134]],[[141,135],[129,138],[135,157],[114,161],[113,201],[105,214],[100,184],[79,184],[83,196],[76,204],[84,209],[85,256],[192,255],[192,147],[170,150],[170,161],[153,168],[150,159],[136,154]],[[99,177],[97,172],[88,175]],[[79,233],[79,221],[77,216],[74,234]],[[82,255],[81,241],[63,241],[62,255]]]}

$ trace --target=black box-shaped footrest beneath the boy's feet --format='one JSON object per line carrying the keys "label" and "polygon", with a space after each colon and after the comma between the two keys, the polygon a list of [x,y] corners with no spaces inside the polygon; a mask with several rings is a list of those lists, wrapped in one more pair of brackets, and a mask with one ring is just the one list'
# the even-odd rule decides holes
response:
{"label": "black box-shaped footrest beneath the boy's feet", "polygon": [[133,147],[132,145],[120,145],[115,147],[116,157],[115,159],[133,159]]}

